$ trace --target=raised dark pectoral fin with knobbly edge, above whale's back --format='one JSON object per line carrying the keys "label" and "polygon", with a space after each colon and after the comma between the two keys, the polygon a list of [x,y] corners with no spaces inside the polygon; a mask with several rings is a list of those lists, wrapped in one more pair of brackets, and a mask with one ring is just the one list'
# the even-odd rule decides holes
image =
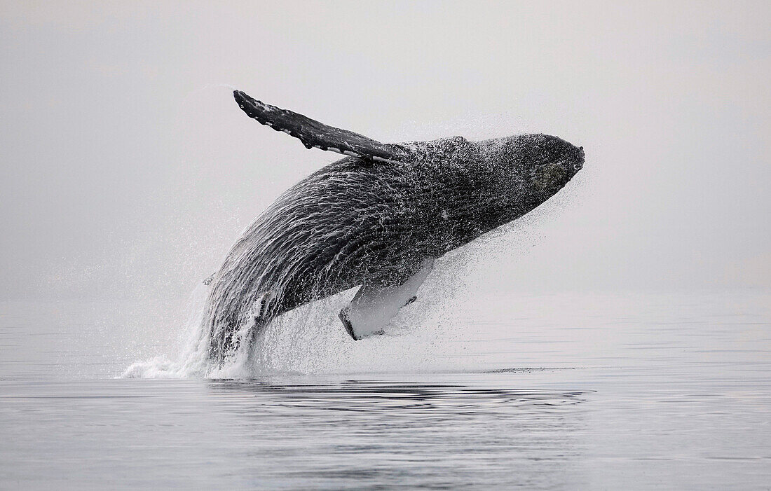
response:
{"label": "raised dark pectoral fin with knobbly edge, above whale's back", "polygon": [[407,146],[380,143],[372,140],[372,138],[359,135],[359,133],[348,131],[348,129],[327,126],[308,116],[261,103],[240,90],[234,90],[233,96],[238,107],[247,113],[247,116],[257,119],[260,123],[270,126],[276,131],[283,131],[294,136],[306,148],[315,147],[345,155],[392,163],[409,162],[413,158],[413,150]]}

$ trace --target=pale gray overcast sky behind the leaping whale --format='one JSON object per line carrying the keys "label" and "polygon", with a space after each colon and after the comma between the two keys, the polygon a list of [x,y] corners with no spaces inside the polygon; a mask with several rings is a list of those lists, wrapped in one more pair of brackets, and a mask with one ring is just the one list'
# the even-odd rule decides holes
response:
{"label": "pale gray overcast sky behind the leaping whale", "polygon": [[382,141],[584,146],[447,264],[480,288],[771,286],[769,2],[0,5],[0,298],[187,294],[336,160],[229,86]]}

